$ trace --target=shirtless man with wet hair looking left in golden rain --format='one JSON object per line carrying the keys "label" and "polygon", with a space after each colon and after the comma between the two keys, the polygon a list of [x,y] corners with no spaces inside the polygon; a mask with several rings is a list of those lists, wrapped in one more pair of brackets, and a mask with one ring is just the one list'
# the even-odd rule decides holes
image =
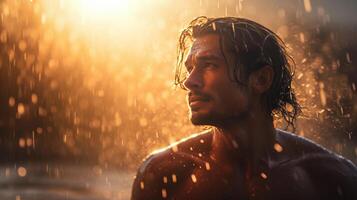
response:
{"label": "shirtless man with wet hair looking left in golden rain", "polygon": [[258,23],[193,20],[179,39],[176,83],[192,123],[212,129],[150,155],[132,199],[357,199],[350,161],[274,128],[273,114],[294,127],[300,111],[289,61]]}

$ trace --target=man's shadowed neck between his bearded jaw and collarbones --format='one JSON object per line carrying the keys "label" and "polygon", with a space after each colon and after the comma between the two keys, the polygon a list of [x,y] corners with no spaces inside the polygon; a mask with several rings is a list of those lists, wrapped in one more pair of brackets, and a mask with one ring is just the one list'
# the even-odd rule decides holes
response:
{"label": "man's shadowed neck between his bearded jaw and collarbones", "polygon": [[238,161],[254,167],[272,148],[275,138],[272,117],[258,113],[214,128],[211,154],[217,161]]}

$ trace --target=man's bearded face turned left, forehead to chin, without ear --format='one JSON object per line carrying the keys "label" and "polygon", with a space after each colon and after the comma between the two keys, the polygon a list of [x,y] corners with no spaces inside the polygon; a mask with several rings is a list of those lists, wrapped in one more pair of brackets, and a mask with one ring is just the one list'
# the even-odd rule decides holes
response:
{"label": "man's bearded face turned left, forehead to chin, without ear", "polygon": [[[220,126],[241,119],[249,111],[249,92],[229,77],[219,36],[196,38],[185,62],[191,122],[195,125]],[[227,60],[233,55],[225,53]]]}

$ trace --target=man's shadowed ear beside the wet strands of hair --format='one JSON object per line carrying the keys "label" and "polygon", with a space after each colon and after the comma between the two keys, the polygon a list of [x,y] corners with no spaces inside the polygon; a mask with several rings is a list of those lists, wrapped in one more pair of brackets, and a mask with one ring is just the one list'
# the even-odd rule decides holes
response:
{"label": "man's shadowed ear beside the wet strands of hair", "polygon": [[274,70],[270,65],[265,65],[264,67],[252,72],[249,76],[249,86],[253,92],[257,94],[262,94],[269,90],[273,83]]}

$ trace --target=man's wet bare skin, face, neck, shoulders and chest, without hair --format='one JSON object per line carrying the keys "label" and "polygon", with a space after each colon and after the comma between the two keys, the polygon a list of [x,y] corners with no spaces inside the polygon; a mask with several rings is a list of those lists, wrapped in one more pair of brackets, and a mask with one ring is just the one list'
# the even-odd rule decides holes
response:
{"label": "man's wet bare skin, face, neck, shoulders and chest, without hair", "polygon": [[197,38],[186,60],[190,119],[211,131],[149,156],[132,199],[357,199],[349,161],[289,133],[264,114],[269,66],[231,81],[217,35]]}

